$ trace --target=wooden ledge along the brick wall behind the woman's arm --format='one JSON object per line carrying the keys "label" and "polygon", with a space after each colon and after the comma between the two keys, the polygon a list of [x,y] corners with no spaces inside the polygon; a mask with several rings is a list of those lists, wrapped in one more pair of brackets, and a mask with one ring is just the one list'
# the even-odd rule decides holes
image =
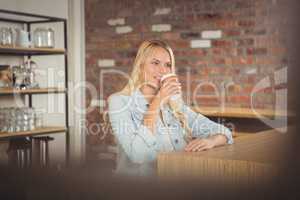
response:
{"label": "wooden ledge along the brick wall behind the woman's arm", "polygon": [[194,111],[209,117],[233,117],[233,118],[259,118],[264,117],[288,117],[293,116],[284,111],[267,110],[267,109],[251,109],[251,108],[224,108],[219,107],[193,107]]}

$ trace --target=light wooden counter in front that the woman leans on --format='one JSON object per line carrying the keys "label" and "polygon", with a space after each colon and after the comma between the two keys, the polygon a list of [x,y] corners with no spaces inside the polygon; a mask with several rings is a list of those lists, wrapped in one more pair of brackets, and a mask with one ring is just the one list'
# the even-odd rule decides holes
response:
{"label": "light wooden counter in front that the woman leans on", "polygon": [[230,184],[256,184],[276,177],[284,163],[287,134],[268,130],[237,135],[233,145],[208,151],[160,153],[158,176]]}

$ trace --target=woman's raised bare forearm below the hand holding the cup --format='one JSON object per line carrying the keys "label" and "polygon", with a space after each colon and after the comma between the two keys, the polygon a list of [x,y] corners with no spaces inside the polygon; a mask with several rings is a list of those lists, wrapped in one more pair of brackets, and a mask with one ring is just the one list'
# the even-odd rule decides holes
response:
{"label": "woman's raised bare forearm below the hand holding the cup", "polygon": [[148,111],[144,115],[143,125],[146,126],[154,133],[155,122],[159,116],[160,101],[157,97],[150,103]]}

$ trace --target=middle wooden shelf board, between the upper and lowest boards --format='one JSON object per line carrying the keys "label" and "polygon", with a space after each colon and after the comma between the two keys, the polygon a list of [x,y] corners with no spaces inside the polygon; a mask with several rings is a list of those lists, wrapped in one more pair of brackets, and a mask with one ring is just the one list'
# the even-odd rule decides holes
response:
{"label": "middle wooden shelf board, between the upper and lowest boards", "polygon": [[26,89],[19,90],[14,88],[0,88],[0,95],[13,95],[13,94],[48,94],[48,93],[64,93],[66,89],[64,88],[36,88],[36,89]]}

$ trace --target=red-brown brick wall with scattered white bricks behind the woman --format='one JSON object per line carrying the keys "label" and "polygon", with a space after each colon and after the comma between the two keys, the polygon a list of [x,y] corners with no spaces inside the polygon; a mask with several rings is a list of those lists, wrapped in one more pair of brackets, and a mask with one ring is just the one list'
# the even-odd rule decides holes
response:
{"label": "red-brown brick wall with scattered white bricks behind the woman", "polygon": [[86,80],[97,91],[87,90],[89,130],[100,133],[93,126],[101,121],[99,105],[124,86],[145,39],[173,48],[189,105],[251,107],[253,88],[265,80],[252,106],[273,109],[276,89],[285,87],[284,73],[274,72],[288,65],[285,2],[86,0]]}

